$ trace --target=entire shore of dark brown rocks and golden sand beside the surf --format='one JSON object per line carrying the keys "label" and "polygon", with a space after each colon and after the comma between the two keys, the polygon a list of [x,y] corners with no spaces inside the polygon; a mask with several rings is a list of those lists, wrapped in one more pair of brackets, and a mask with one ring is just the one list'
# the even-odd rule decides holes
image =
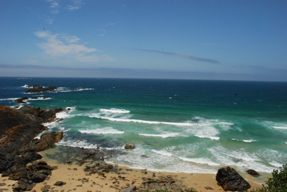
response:
{"label": "entire shore of dark brown rocks and golden sand beside the surf", "polygon": [[[40,160],[42,155],[38,152],[54,148],[55,143],[63,139],[63,132],[51,132],[41,135],[40,139],[34,138],[47,129],[47,127],[42,125],[43,123],[56,121],[56,113],[63,111],[61,108],[47,110],[30,105],[19,109],[0,106],[0,124],[2,125],[0,129],[0,135],[2,135],[0,139],[0,173],[2,177],[8,177],[9,180],[17,180],[17,183],[12,186],[13,191],[32,189],[36,191],[35,188],[41,191],[60,191],[58,189],[64,189],[63,191],[65,191],[68,187],[66,186],[68,181],[63,179],[69,178],[69,175],[66,173],[67,170],[85,175],[80,180],[78,179],[82,184],[75,186],[82,187],[81,191],[83,191],[83,184],[89,183],[87,177],[90,176],[97,179],[97,181],[105,182],[105,184],[98,184],[100,182],[93,181],[89,186],[84,187],[85,190],[86,188],[100,186],[105,189],[103,191],[129,192],[149,189],[177,192],[198,187],[196,186],[197,183],[194,183],[195,185],[189,183],[189,179],[193,174],[162,174],[147,170],[133,170],[106,163],[104,156],[107,154],[105,151],[101,151],[100,148],[84,149],[57,146],[55,149],[58,152],[46,153],[45,157],[56,160],[60,165],[49,166],[47,162]],[[126,145],[124,150],[133,150],[134,148],[135,146],[133,145]],[[53,178],[51,175],[54,172],[58,172],[59,166],[61,167],[60,169],[63,169],[65,166],[76,167],[73,169],[68,167],[64,172],[60,170],[60,173],[57,174],[62,174],[62,179],[55,181],[51,179]],[[178,175],[181,175],[181,177],[178,177]],[[199,188],[200,191],[222,189],[234,191],[246,190],[251,187],[243,177],[229,167],[220,168],[217,175],[214,176],[203,175],[201,176],[202,178],[199,177],[198,179],[206,180],[208,178],[208,183],[211,183],[211,186],[205,183],[205,186],[202,186],[203,188]],[[55,178],[57,177],[54,176]],[[69,179],[74,180],[75,178]],[[125,184],[122,185],[122,183]],[[73,186],[72,182],[70,186]],[[72,188],[69,190],[76,189]]]}

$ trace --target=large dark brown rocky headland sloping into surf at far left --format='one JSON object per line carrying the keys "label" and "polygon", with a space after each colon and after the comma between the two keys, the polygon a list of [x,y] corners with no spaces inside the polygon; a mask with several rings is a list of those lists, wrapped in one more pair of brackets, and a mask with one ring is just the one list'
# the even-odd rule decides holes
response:
{"label": "large dark brown rocky headland sloping into surf at far left", "polygon": [[[63,109],[0,106],[0,173],[18,180],[13,191],[31,190],[53,170],[46,162],[35,161],[42,158],[36,152],[55,146],[63,133],[43,134],[39,140],[34,138],[46,130],[41,123],[53,121],[60,111]],[[32,161],[32,166],[27,167],[27,163]]]}

